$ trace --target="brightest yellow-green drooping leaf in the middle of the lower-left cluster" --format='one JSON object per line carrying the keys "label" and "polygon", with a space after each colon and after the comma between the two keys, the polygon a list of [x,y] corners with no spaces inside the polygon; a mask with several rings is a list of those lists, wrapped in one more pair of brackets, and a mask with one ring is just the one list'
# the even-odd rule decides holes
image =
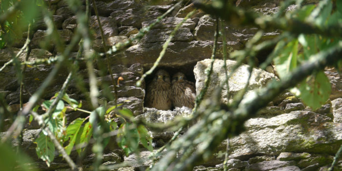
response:
{"label": "brightest yellow-green drooping leaf in the middle of the lower-left cluster", "polygon": [[85,119],[77,118],[72,121],[66,128],[66,137],[70,138],[69,144],[65,147],[65,152],[69,155],[74,147],[76,140],[81,136],[83,131],[80,131]]}

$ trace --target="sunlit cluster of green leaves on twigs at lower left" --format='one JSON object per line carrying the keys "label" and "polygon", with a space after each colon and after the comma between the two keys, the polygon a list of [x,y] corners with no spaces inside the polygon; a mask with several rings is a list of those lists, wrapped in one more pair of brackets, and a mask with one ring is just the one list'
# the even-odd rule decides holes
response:
{"label": "sunlit cluster of green leaves on twigs at lower left", "polygon": [[[58,94],[55,94],[57,97]],[[51,107],[54,99],[44,101],[42,107],[44,109],[48,109]],[[64,103],[66,102],[67,105]],[[117,142],[120,148],[122,148],[126,155],[131,152],[134,152],[138,149],[139,143],[148,150],[153,150],[152,148],[152,137],[150,136],[148,130],[142,126],[136,126],[133,123],[128,123],[124,118],[131,119],[133,118],[133,113],[128,108],[117,109],[114,106],[109,107],[106,110],[106,107],[98,107],[94,111],[90,113],[90,115],[86,118],[77,118],[72,121],[68,126],[65,125],[66,116],[65,111],[67,108],[72,108],[74,110],[79,110],[82,106],[82,103],[78,103],[76,100],[70,98],[68,95],[64,95],[62,100],[60,100],[56,106],[56,109],[52,112],[51,117],[47,117],[45,119],[45,125],[47,128],[54,133],[56,139],[63,146],[67,144],[64,149],[66,153],[69,155],[72,150],[76,150],[80,155],[81,152],[85,150],[85,146],[89,143],[93,135],[93,127],[96,125],[98,128],[104,130],[104,133],[108,133],[110,131],[115,131],[117,133]],[[34,108],[34,111],[37,111],[39,106]],[[114,121],[113,113],[116,116],[119,116],[124,121],[121,126],[118,128],[117,123]],[[33,120],[32,115],[30,116],[30,122]],[[109,142],[109,136],[104,137],[103,145],[107,146]],[[40,133],[38,139],[35,142],[37,144],[36,152],[38,157],[40,157],[43,161],[46,162],[47,166],[50,166],[50,163],[54,160],[55,157],[55,145],[51,141],[47,132],[43,131]],[[76,148],[75,148],[76,147]]]}

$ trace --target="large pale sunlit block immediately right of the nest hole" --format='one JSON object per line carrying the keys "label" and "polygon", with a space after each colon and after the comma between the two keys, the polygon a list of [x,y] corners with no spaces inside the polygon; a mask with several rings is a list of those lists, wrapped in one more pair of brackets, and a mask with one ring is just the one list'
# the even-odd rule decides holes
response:
{"label": "large pale sunlit block immediately right of the nest hole", "polygon": [[[195,65],[193,69],[195,79],[196,79],[196,92],[197,93],[199,93],[204,87],[206,74],[203,71],[210,65],[210,63],[211,63],[210,59],[200,61]],[[236,64],[235,61],[227,60],[227,70],[228,71],[231,70],[235,64]],[[247,84],[248,75],[249,75],[248,67],[249,67],[248,65],[243,64],[238,69],[236,69],[235,73],[229,79],[229,94],[235,95],[239,90],[245,87],[245,84]],[[228,75],[229,74],[230,73],[228,73]],[[249,85],[248,85],[249,91],[247,92],[247,94],[251,92],[250,90],[258,89],[258,88],[265,86],[274,77],[275,77],[274,74],[271,74],[261,69],[254,68],[252,71],[252,76],[249,81]],[[223,60],[215,60],[214,65],[213,65],[213,73],[211,75],[211,82],[209,83],[209,87],[204,98],[210,97],[210,95],[213,94],[216,87],[224,83],[225,79],[226,79],[226,75],[225,75],[225,71],[223,68]],[[227,103],[228,102],[227,85],[223,86],[221,94],[222,94],[221,101],[223,103]]]}

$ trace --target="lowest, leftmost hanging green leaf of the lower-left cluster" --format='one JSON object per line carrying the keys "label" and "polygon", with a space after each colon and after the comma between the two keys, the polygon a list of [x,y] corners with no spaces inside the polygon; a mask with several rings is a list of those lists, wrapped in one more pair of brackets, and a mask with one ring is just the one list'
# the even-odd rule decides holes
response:
{"label": "lowest, leftmost hanging green leaf of the lower-left cluster", "polygon": [[39,134],[36,143],[36,153],[38,157],[41,158],[48,167],[50,167],[50,163],[55,158],[55,145],[51,141],[50,137],[46,136],[43,132]]}

